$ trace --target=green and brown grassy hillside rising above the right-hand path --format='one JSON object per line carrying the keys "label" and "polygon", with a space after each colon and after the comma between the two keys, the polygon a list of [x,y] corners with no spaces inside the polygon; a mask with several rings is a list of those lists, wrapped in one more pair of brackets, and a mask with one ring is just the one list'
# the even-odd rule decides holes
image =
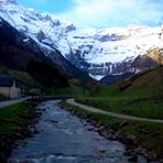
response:
{"label": "green and brown grassy hillside rising above the right-hand path", "polygon": [[108,111],[163,119],[163,67],[138,73],[77,100]]}

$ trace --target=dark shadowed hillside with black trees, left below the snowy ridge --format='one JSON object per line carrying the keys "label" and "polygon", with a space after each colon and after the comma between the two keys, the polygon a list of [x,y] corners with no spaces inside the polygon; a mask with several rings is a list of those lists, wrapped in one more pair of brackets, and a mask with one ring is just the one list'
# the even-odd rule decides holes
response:
{"label": "dark shadowed hillside with black trees, left below the snowy ridge", "polygon": [[28,72],[37,83],[45,87],[68,86],[67,78],[86,77],[87,73],[68,63],[57,50],[50,51],[54,61],[45,56],[33,39],[19,32],[2,18],[0,19],[0,66]]}

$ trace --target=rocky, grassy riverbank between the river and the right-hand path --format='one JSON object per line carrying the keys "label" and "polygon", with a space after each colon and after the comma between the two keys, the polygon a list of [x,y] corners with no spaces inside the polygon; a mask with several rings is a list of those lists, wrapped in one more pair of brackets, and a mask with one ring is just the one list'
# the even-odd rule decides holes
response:
{"label": "rocky, grassy riverbank between the river and the right-hand path", "polygon": [[146,157],[148,162],[159,160],[162,162],[162,124],[151,122],[127,121],[108,116],[91,113],[79,107],[74,107],[65,101],[61,106],[86,119],[107,139],[119,140],[127,146],[124,154],[130,155],[130,161],[137,162],[138,154]]}

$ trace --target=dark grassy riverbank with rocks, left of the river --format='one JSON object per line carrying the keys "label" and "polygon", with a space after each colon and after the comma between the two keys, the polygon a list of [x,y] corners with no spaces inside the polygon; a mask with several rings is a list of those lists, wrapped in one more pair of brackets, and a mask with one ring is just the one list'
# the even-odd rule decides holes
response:
{"label": "dark grassy riverbank with rocks, left of the river", "polygon": [[0,109],[0,162],[6,163],[17,141],[36,133],[34,123],[41,112],[35,102],[28,100]]}

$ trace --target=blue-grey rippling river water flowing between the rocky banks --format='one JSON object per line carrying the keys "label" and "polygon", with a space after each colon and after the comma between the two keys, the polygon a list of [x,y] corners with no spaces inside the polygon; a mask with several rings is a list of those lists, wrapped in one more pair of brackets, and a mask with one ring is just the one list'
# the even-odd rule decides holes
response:
{"label": "blue-grey rippling river water flowing between the rocky banks", "polygon": [[[58,101],[39,106],[45,110],[32,138],[19,142],[9,163],[128,163],[124,146],[89,129],[93,127],[58,107]],[[138,162],[145,162],[139,157]]]}

